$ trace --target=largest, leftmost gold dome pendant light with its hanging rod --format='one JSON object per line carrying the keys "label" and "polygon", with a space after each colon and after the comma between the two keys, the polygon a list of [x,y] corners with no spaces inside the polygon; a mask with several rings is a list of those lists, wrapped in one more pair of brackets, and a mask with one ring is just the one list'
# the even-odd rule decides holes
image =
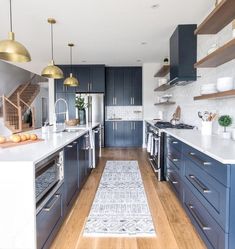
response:
{"label": "largest, leftmost gold dome pendant light with its hanging rod", "polygon": [[15,34],[12,31],[12,8],[10,0],[10,32],[8,40],[0,41],[0,59],[12,62],[31,61],[28,50],[19,42],[15,41]]}

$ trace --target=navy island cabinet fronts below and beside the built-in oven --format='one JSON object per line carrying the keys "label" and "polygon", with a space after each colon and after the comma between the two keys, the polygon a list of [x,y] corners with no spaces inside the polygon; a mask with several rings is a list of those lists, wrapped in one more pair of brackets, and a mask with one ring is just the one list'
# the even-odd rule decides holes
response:
{"label": "navy island cabinet fronts below and beside the built-in oven", "polygon": [[89,173],[89,134],[64,148],[64,183],[36,217],[37,248],[50,248]]}

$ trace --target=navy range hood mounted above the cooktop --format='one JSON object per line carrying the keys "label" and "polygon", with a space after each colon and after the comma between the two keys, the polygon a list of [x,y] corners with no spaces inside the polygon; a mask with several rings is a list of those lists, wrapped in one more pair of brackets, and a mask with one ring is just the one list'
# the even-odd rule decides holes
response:
{"label": "navy range hood mounted above the cooktop", "polygon": [[170,85],[186,85],[197,80],[196,24],[178,25],[170,38]]}

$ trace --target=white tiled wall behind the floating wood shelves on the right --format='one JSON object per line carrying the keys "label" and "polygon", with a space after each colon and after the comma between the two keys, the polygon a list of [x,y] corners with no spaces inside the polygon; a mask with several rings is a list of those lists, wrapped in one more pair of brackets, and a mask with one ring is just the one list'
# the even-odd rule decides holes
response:
{"label": "white tiled wall behind the floating wood shelves on the right", "polygon": [[[222,46],[225,42],[232,38],[232,27],[228,25],[218,35],[198,36],[198,60],[205,57],[208,49],[213,43]],[[218,68],[198,69],[198,80],[187,86],[176,86],[165,93],[172,93],[173,100],[176,101],[174,106],[157,107],[156,110],[165,111],[166,118],[169,120],[175,111],[177,105],[182,109],[182,122],[196,125],[201,128],[201,120],[197,116],[198,111],[217,111],[219,115],[229,114],[233,118],[233,126],[235,127],[235,98],[194,101],[193,97],[200,95],[200,86],[207,83],[216,83],[218,77],[232,76],[235,81],[235,60],[230,61]],[[153,88],[152,88],[153,91]],[[162,93],[155,93],[157,95]],[[214,122],[213,132],[218,133],[221,128],[217,122]]]}

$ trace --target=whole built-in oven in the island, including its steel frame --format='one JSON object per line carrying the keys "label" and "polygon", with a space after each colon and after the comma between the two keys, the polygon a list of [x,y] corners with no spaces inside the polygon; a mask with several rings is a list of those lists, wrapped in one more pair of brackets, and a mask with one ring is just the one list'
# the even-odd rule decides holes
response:
{"label": "whole built-in oven in the island, including its steel frame", "polygon": [[36,205],[50,198],[58,183],[63,181],[63,151],[58,151],[36,165],[35,170],[35,195]]}

